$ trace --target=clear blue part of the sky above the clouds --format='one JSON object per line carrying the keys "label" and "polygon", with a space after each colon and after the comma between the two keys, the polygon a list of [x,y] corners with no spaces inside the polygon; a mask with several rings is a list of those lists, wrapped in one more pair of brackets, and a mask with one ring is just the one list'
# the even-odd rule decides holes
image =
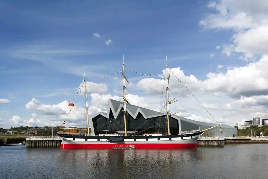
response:
{"label": "clear blue part of the sky above the clouds", "polygon": [[[123,54],[131,70],[160,72],[167,56],[169,67],[180,67],[185,75],[200,80],[216,72],[219,64],[246,64],[239,54],[227,57],[216,49],[230,43],[233,31],[200,26],[213,11],[208,3],[0,1],[0,98],[11,101],[0,104],[8,112],[2,118],[29,117],[32,112],[25,110],[25,104],[32,98],[51,105],[69,100],[84,73],[96,83],[103,81],[94,76],[121,70]],[[112,43],[106,45],[108,39]],[[132,72],[127,76],[137,77]],[[109,93],[116,95],[113,90],[118,84],[105,83],[111,85]]]}

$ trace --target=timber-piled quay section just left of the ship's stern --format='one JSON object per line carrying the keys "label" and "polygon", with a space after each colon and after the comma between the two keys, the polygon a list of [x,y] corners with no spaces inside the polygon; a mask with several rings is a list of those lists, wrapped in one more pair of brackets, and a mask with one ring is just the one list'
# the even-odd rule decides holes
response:
{"label": "timber-piled quay section just left of the ship's stern", "polygon": [[27,148],[60,148],[62,138],[59,136],[31,136],[26,138]]}

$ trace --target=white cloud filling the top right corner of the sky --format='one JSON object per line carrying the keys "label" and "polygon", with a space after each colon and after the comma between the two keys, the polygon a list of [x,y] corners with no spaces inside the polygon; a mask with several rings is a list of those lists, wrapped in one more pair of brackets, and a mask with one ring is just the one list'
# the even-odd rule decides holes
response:
{"label": "white cloud filling the top right corner of the sky", "polygon": [[[210,1],[208,14],[200,24],[206,29],[230,29],[235,32],[232,44],[224,44],[222,53],[245,53],[240,59],[253,61],[254,54],[268,53],[268,1]],[[217,46],[218,47],[218,46]],[[249,58],[250,57],[250,58]]]}

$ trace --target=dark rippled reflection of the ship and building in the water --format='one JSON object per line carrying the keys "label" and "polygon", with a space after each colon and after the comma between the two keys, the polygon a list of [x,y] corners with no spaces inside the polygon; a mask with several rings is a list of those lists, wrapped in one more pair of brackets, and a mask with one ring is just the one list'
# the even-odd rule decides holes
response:
{"label": "dark rippled reflection of the ship and building in the water", "polygon": [[59,161],[73,163],[76,175],[88,171],[95,178],[177,178],[179,168],[192,172],[188,167],[202,158],[197,149],[68,149],[64,152],[69,157],[60,155]]}

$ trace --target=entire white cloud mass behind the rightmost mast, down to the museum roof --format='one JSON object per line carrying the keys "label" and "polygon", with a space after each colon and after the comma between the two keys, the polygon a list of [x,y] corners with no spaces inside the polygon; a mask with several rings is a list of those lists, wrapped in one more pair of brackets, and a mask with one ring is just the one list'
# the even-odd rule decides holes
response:
{"label": "entire white cloud mass behind the rightmost mast, down to the museum roof", "polygon": [[[222,65],[218,66],[218,68],[222,67]],[[171,71],[181,82],[171,74],[170,96],[176,95],[179,102],[187,110],[179,109],[180,104],[174,103],[172,104],[175,108],[173,112],[180,111],[178,115],[194,120],[208,121],[209,119],[214,121],[202,107],[196,111],[197,107],[194,107],[193,103],[197,106],[201,105],[190,95],[191,92],[198,100],[203,99],[200,102],[203,101],[202,105],[209,113],[215,115],[217,121],[233,125],[236,121],[250,120],[258,115],[268,117],[266,112],[268,111],[267,68],[267,56],[263,56],[259,61],[246,66],[228,67],[225,72],[209,72],[206,75],[207,78],[202,80],[197,79],[194,75],[185,75],[180,67],[172,68]],[[137,87],[151,96],[161,95],[162,92],[165,94],[164,85],[163,74],[160,75],[160,79],[144,78],[137,83]],[[189,97],[193,98],[193,103]],[[150,107],[151,105],[149,104]],[[154,109],[160,111],[158,106],[155,106]],[[202,110],[203,113],[198,114]],[[207,117],[205,117],[206,115]]]}

